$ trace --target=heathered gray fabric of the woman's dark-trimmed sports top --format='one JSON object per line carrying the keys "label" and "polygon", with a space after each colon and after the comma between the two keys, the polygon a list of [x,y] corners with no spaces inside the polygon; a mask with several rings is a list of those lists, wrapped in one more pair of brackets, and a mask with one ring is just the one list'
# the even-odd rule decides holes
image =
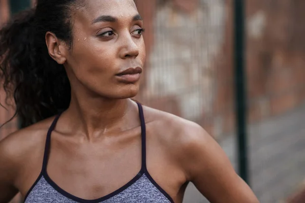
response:
{"label": "heathered gray fabric of the woman's dark-trimmed sports top", "polygon": [[[42,176],[25,199],[25,203],[75,203],[75,201],[56,191]],[[170,203],[171,201],[143,174],[135,183],[125,190],[103,201],[103,203]]]}

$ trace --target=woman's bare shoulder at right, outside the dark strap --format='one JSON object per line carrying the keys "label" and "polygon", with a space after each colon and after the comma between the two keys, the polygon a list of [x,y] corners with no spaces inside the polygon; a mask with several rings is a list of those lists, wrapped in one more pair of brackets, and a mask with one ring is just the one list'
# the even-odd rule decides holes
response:
{"label": "woman's bare shoulder at right, outside the dark strap", "polygon": [[214,167],[216,159],[225,160],[225,166],[233,170],[222,148],[200,125],[166,112],[147,107],[145,110],[151,134],[157,136],[158,143],[189,181],[194,181],[196,174],[209,173],[208,167]]}

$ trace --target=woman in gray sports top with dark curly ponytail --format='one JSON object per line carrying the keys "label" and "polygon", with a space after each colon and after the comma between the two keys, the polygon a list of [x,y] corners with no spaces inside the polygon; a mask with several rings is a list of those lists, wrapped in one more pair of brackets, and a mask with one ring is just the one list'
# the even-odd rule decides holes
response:
{"label": "woman in gray sports top with dark curly ponytail", "polygon": [[200,126],[129,99],[142,24],[132,0],[39,0],[2,29],[28,127],[0,144],[0,202],[181,202],[190,181],[211,202],[258,202]]}

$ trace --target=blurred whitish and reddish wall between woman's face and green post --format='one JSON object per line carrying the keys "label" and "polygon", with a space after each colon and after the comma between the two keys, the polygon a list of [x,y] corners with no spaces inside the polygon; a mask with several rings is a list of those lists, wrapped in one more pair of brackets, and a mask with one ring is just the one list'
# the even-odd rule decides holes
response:
{"label": "blurred whitish and reddish wall between woman's face and green post", "polygon": [[[229,131],[233,126],[230,1],[163,2],[155,2],[154,16],[144,19],[153,24],[153,32],[145,33],[146,44],[151,39],[154,43],[148,43],[139,99],[196,121],[213,134]],[[144,14],[150,8],[138,5],[138,9]]]}

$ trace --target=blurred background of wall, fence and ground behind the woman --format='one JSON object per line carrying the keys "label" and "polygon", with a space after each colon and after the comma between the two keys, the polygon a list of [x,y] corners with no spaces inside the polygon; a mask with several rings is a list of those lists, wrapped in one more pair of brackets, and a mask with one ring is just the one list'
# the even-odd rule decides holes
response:
{"label": "blurred background of wall, fence and ground behind the woman", "polygon": [[[200,124],[239,173],[238,155],[246,155],[248,167],[243,167],[242,176],[261,202],[305,202],[305,1],[137,0],[136,4],[144,19],[147,49],[137,99]],[[0,0],[0,23],[31,5],[34,1]],[[244,15],[236,16],[236,8]],[[238,18],[245,22],[243,38],[235,36]],[[244,74],[236,69],[234,49],[242,42]],[[239,83],[242,88],[236,81],[244,82]],[[246,111],[235,108],[242,104],[242,89]],[[13,112],[1,107],[0,124]],[[237,113],[245,114],[245,119],[236,122]],[[0,139],[17,126],[16,119],[5,125]],[[240,129],[247,132],[244,148],[238,145]],[[184,202],[208,201],[190,184]]]}

